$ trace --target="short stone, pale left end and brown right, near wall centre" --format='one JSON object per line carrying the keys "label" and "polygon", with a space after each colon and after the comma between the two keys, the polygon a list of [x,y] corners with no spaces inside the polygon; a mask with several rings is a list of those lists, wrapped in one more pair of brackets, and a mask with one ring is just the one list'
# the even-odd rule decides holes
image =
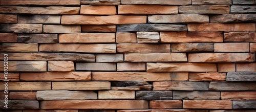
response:
{"label": "short stone, pale left end and brown right, near wall centre", "polygon": [[117,63],[117,71],[146,71],[146,63],[145,62]]}

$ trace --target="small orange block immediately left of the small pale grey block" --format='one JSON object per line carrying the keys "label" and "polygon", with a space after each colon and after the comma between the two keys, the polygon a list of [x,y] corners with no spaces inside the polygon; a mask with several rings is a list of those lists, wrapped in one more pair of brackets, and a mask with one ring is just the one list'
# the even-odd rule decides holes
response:
{"label": "small orange block immediately left of the small pale grey block", "polygon": [[117,32],[117,43],[137,43],[137,36],[135,33]]}

